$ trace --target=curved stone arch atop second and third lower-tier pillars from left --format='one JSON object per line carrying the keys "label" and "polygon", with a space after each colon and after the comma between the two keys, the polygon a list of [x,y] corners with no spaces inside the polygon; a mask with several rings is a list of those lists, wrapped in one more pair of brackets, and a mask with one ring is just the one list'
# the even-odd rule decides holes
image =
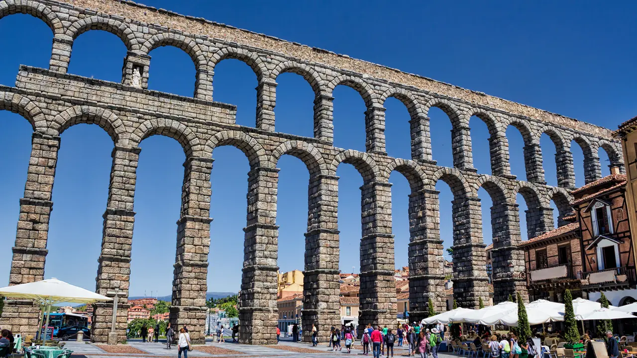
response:
{"label": "curved stone arch atop second and third lower-tier pillars from left", "polygon": [[172,119],[153,118],[143,122],[131,134],[131,142],[139,146],[141,141],[150,136],[161,135],[173,138],[182,145],[186,157],[210,157],[201,145],[197,134],[187,125]]}

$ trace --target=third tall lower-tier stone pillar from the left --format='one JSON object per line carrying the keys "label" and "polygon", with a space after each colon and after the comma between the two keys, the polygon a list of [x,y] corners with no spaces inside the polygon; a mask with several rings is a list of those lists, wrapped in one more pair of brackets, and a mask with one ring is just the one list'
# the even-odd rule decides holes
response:
{"label": "third tall lower-tier stone pillar from the left", "polygon": [[183,163],[182,211],[177,221],[170,322],[173,327],[188,326],[195,344],[203,344],[206,338],[212,162],[210,157],[188,157]]}

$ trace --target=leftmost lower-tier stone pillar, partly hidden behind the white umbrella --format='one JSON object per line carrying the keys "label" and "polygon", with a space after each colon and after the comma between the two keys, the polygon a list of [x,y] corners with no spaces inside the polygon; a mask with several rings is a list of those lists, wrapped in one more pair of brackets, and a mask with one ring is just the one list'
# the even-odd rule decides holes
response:
{"label": "leftmost lower-tier stone pillar, partly hidden behind the white umbrella", "polygon": [[[20,199],[20,216],[15,236],[9,285],[41,281],[47,257],[48,222],[53,209],[51,193],[57,164],[59,136],[34,132],[31,159]],[[38,331],[39,307],[29,300],[5,301],[0,326],[13,333]]]}

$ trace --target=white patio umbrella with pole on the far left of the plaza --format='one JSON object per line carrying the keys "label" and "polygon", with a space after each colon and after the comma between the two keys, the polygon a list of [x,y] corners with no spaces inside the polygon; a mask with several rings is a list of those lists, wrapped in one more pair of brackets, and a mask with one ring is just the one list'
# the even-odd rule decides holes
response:
{"label": "white patio umbrella with pole on the far left of the plaza", "polygon": [[[49,278],[48,280],[41,280],[38,282],[22,283],[21,285],[7,286],[0,288],[0,296],[13,299],[30,299],[41,306],[52,306],[53,304],[68,302],[68,303],[94,303],[96,301],[112,301],[110,297],[96,294],[95,292],[83,289],[60,281],[57,278]],[[50,312],[47,310],[47,323],[45,327],[48,327],[48,320]],[[38,327],[39,329],[39,327]],[[45,333],[43,343],[47,341],[47,334]]]}

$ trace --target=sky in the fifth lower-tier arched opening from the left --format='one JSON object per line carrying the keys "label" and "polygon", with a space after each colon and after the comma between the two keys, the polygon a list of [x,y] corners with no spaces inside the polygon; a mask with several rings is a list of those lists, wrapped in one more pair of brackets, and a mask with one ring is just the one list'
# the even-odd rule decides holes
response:
{"label": "sky in the fifth lower-tier arched opening from the left", "polygon": [[306,165],[292,155],[283,155],[276,167],[281,169],[276,197],[276,225],[279,226],[278,266],[281,272],[303,271],[305,238],[308,231],[308,183]]}

